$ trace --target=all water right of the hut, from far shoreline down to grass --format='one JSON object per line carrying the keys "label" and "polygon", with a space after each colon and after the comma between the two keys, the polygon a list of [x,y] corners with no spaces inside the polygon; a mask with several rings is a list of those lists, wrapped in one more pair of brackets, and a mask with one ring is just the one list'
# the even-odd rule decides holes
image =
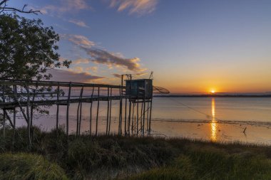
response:
{"label": "all water right of the hut, from far shoreline down to grass", "polygon": [[153,102],[158,134],[271,144],[271,98],[158,97]]}

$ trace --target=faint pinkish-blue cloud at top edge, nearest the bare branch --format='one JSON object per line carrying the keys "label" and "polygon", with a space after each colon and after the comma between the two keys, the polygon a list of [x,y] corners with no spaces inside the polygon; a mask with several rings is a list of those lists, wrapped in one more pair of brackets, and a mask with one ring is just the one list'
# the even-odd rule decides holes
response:
{"label": "faint pinkish-blue cloud at top edge, nearest the bare branch", "polygon": [[91,9],[86,0],[60,0],[60,4],[44,6],[40,11],[42,14],[63,14],[84,9]]}

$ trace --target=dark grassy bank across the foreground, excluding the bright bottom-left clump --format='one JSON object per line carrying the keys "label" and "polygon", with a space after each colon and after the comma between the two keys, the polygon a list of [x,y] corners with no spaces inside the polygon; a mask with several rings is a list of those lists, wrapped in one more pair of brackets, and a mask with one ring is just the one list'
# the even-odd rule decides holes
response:
{"label": "dark grassy bank across the foreground, excluding the bright bottom-left clump", "polygon": [[[65,172],[68,179],[271,179],[271,148],[260,144],[88,135],[70,135],[67,140],[63,130],[35,128],[29,147],[26,129],[18,131],[15,143],[12,130],[5,139],[0,137],[1,157],[13,156],[22,163],[39,159],[44,162],[38,171],[56,166],[53,174]],[[0,166],[16,166],[11,165],[6,161]],[[14,174],[29,174],[23,170]]]}

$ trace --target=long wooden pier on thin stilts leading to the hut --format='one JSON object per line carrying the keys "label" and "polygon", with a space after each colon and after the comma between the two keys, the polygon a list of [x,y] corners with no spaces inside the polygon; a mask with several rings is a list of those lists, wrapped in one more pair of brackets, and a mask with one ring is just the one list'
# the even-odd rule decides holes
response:
{"label": "long wooden pier on thin stilts leading to the hut", "polygon": [[[16,129],[16,113],[21,112],[26,120],[30,136],[35,108],[56,105],[56,129],[58,129],[59,106],[66,106],[66,134],[68,137],[70,104],[77,103],[76,135],[81,134],[82,105],[89,105],[90,135],[94,135],[91,134],[93,113],[96,113],[95,135],[98,133],[111,134],[111,108],[114,101],[119,104],[119,135],[150,135],[152,93],[147,97],[146,90],[137,88],[138,94],[132,95],[130,92],[135,90],[132,90],[131,83],[124,84],[126,84],[126,80],[123,80],[123,77],[121,85],[0,79],[0,110],[4,119],[2,128],[5,129],[7,121],[11,127]],[[101,101],[107,102],[106,132],[98,132]],[[97,103],[97,110],[93,110],[93,102]],[[13,120],[11,120],[12,114]]]}

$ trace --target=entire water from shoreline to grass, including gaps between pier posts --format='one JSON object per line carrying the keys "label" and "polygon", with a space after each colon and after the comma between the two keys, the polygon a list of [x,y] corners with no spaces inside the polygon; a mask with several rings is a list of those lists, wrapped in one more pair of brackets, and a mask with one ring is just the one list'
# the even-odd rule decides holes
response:
{"label": "entire water from shoreline to grass, including gaps between pier posts", "polygon": [[[83,103],[82,131],[89,129],[90,104]],[[106,129],[107,102],[100,102],[98,132]],[[44,130],[56,126],[56,106],[48,116],[36,116],[34,124]],[[118,129],[118,101],[113,101],[111,132]],[[70,107],[70,132],[76,129],[77,105]],[[124,113],[123,113],[124,114]],[[124,116],[123,116],[124,117]],[[211,141],[271,144],[271,98],[269,97],[154,97],[152,133],[165,137],[188,137]],[[18,125],[24,125],[24,120]],[[66,124],[66,107],[60,108],[60,124]],[[92,127],[96,126],[93,103]],[[245,130],[245,133],[244,133]],[[94,133],[94,128],[92,128]]]}

